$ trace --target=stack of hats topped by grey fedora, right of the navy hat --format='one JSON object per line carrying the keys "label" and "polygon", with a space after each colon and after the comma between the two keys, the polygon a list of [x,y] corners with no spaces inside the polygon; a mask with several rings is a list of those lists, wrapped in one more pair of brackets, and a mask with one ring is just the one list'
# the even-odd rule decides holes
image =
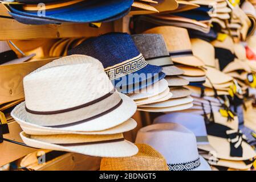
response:
{"label": "stack of hats topped by grey fedora, right of the navy hat", "polygon": [[[166,95],[167,93],[165,94],[162,92],[158,96],[144,98],[143,100],[135,100],[139,107],[138,110],[161,112],[188,108],[188,104],[192,102],[190,96],[180,97],[181,94],[170,91],[173,87],[188,85],[189,81],[178,76],[184,72],[173,65],[164,38],[162,38],[160,34],[137,34],[133,35],[132,38],[149,64],[162,67],[162,72],[166,75],[165,84],[168,90],[168,95]],[[161,81],[159,81],[159,84]],[[157,85],[154,84],[153,86],[155,87]],[[161,87],[161,85],[158,85],[157,89],[164,90]],[[150,94],[147,90],[147,94],[148,93]],[[146,94],[144,95],[146,96]],[[138,97],[138,94],[130,94],[128,96],[135,98]]]}

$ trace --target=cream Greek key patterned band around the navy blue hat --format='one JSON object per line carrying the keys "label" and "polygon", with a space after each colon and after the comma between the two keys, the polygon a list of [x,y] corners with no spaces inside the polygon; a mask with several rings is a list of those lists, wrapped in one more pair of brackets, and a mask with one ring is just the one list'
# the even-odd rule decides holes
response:
{"label": "cream Greek key patterned band around the navy blue hat", "polygon": [[105,68],[105,73],[107,73],[109,80],[114,80],[116,78],[128,75],[129,73],[136,72],[144,68],[148,62],[144,59],[141,53],[133,57],[132,59],[123,61],[120,64],[113,65],[112,67]]}

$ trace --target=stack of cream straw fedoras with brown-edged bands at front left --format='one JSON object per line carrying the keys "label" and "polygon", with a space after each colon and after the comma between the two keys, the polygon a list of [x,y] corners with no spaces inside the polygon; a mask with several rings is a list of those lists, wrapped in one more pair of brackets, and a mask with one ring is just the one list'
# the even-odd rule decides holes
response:
{"label": "stack of cream straw fedoras with brown-edged bands at front left", "polygon": [[11,116],[28,146],[91,156],[137,154],[123,136],[136,127],[136,104],[116,91],[99,60],[62,57],[27,75],[23,85],[25,102]]}

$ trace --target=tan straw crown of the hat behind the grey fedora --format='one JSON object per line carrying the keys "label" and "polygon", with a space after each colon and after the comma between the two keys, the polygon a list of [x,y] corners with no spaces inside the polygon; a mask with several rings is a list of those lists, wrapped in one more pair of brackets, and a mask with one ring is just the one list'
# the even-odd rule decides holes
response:
{"label": "tan straw crown of the hat behind the grey fedora", "polygon": [[147,34],[161,34],[164,37],[168,51],[191,50],[192,46],[188,31],[185,28],[160,26],[145,31]]}

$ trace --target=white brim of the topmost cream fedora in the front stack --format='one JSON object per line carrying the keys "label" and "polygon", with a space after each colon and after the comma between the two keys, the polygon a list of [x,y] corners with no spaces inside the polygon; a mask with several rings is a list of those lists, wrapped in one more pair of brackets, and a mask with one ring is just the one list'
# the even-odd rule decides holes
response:
{"label": "white brim of the topmost cream fedora in the front stack", "polygon": [[[71,125],[64,125],[64,126],[58,126],[58,129],[60,130],[70,130],[70,131],[101,131],[101,130],[107,130],[112,127],[115,127],[117,125],[120,125],[121,123],[127,121],[129,118],[132,117],[132,115],[136,111],[136,104],[129,98],[128,96],[125,96],[124,94],[119,93],[119,96],[123,100],[122,104],[117,107],[115,110],[102,115],[101,117],[91,119],[90,121],[86,122],[78,122],[78,123],[72,123]],[[11,116],[17,120],[17,121],[27,121],[26,118],[27,111],[25,109],[25,102],[22,102],[18,106],[14,108],[13,111],[11,111]],[[70,112],[66,114],[71,114]],[[79,118],[82,118],[82,114],[78,116]],[[42,115],[38,115],[37,117],[42,117]],[[44,115],[43,115],[44,117]],[[54,117],[54,114],[51,115],[51,117]],[[22,118],[22,119],[21,119]],[[81,121],[83,119],[78,119],[78,121]],[[54,127],[56,128],[56,127]]]}

